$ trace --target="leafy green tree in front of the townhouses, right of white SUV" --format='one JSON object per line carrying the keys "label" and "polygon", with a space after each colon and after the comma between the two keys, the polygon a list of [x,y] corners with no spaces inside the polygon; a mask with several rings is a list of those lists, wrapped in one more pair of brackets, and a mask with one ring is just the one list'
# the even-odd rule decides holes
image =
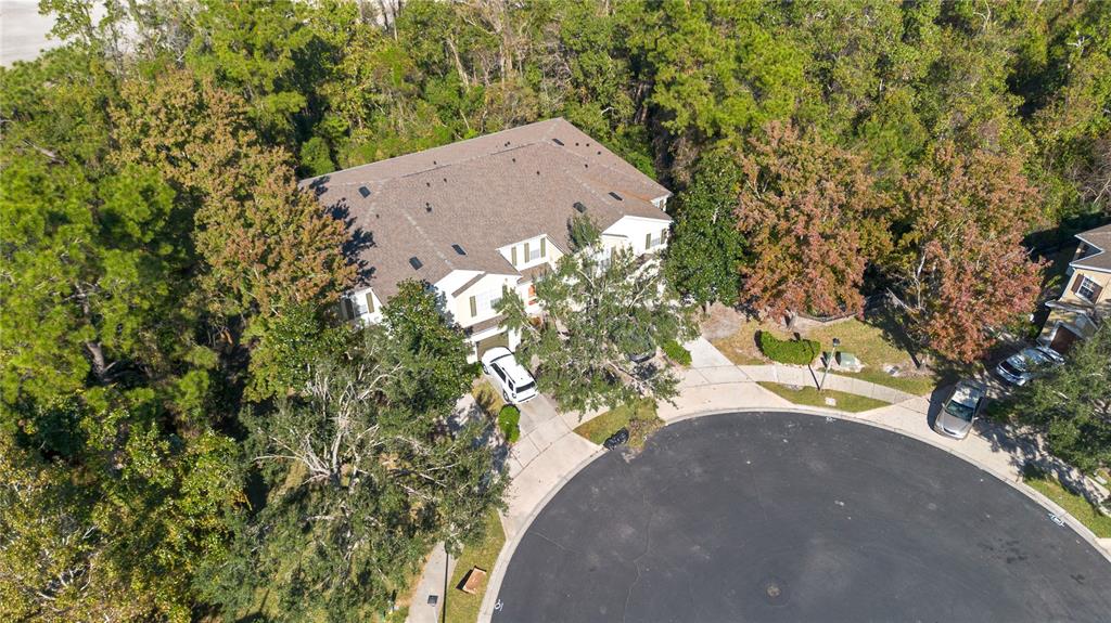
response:
{"label": "leafy green tree in front of the townhouses, right of white SUV", "polygon": [[516,292],[506,290],[498,303],[506,326],[521,334],[520,360],[540,361],[537,382],[562,409],[673,397],[678,379],[670,370],[634,365],[630,356],[689,337],[690,309],[664,286],[657,257],[604,246],[588,216],[569,227],[578,253],[561,257],[554,272],[536,282],[543,320],[529,317]]}

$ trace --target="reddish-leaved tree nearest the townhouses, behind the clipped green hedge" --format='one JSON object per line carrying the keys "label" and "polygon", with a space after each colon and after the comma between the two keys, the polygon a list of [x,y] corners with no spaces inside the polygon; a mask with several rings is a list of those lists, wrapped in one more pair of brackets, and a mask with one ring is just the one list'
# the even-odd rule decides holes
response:
{"label": "reddish-leaved tree nearest the townhouses, behind the clipped green hedge", "polygon": [[888,245],[888,202],[863,159],[773,122],[741,168],[742,302],[772,316],[861,312],[864,267]]}

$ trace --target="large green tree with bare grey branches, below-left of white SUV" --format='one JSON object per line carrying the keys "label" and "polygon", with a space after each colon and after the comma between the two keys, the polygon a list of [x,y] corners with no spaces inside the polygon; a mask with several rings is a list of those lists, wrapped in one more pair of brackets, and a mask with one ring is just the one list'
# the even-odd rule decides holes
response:
{"label": "large green tree with bare grey branches, below-left of white SUV", "polygon": [[229,617],[261,607],[280,620],[363,621],[392,604],[433,543],[458,549],[499,503],[492,423],[452,431],[442,409],[413,402],[437,354],[383,326],[362,338],[314,365],[300,395],[243,415],[268,497],[243,513],[231,562],[203,576]]}

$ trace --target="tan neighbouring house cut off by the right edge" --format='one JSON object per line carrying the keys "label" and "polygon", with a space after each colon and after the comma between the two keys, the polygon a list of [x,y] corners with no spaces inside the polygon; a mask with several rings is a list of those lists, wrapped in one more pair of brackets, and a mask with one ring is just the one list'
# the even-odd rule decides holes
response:
{"label": "tan neighbouring house cut off by the right edge", "polygon": [[1039,344],[1068,351],[1078,339],[1095,333],[1111,314],[1111,224],[1077,234],[1080,246],[1069,263],[1064,292],[1045,304],[1049,318]]}

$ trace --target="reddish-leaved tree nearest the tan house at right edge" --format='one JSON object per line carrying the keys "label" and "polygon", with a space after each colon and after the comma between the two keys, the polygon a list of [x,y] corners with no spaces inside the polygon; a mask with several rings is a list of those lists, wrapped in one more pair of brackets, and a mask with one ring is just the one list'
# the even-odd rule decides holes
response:
{"label": "reddish-leaved tree nearest the tan house at right edge", "polygon": [[1043,264],[1022,237],[1041,221],[1038,200],[1018,157],[952,144],[903,180],[891,294],[922,346],[971,362],[994,328],[1034,309]]}

